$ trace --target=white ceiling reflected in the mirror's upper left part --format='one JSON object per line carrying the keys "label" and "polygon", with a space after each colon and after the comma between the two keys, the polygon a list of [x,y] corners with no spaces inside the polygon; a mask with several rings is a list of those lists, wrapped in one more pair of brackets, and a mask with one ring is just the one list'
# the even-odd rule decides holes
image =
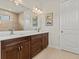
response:
{"label": "white ceiling reflected in the mirror's upper left part", "polygon": [[23,8],[21,6],[16,6],[13,2],[10,2],[9,0],[0,0],[0,8],[15,13],[23,11]]}

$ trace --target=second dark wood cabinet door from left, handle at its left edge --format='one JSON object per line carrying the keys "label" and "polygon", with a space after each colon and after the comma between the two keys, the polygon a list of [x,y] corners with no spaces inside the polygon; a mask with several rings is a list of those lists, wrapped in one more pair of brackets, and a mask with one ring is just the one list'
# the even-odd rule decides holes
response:
{"label": "second dark wood cabinet door from left, handle at its left edge", "polygon": [[20,59],[31,59],[30,58],[30,41],[24,41],[20,44]]}

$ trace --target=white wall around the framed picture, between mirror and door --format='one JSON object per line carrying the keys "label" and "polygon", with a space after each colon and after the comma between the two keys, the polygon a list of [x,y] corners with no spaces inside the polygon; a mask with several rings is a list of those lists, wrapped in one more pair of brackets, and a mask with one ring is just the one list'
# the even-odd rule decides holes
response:
{"label": "white wall around the framed picture, between mirror and door", "polygon": [[[39,17],[41,20],[41,29],[42,31],[49,31],[49,47],[54,47],[54,48],[59,48],[60,46],[60,20],[59,20],[59,1],[55,0],[55,1],[50,1],[49,4],[47,5],[46,8],[44,8],[43,10],[44,13],[43,15],[40,15]],[[53,12],[53,26],[46,26],[45,25],[45,15],[48,12]]]}

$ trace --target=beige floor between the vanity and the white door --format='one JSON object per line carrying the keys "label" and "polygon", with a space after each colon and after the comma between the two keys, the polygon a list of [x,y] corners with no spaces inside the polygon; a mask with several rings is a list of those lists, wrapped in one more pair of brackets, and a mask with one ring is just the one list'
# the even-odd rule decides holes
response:
{"label": "beige floor between the vanity and the white door", "polygon": [[53,48],[46,48],[33,59],[79,59],[79,55]]}

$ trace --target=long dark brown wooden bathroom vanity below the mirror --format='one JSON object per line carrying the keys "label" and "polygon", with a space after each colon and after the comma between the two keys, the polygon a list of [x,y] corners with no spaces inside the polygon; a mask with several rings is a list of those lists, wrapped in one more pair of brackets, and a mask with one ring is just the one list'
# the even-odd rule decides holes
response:
{"label": "long dark brown wooden bathroom vanity below the mirror", "polygon": [[1,59],[32,59],[48,46],[48,32],[10,36],[0,43]]}

